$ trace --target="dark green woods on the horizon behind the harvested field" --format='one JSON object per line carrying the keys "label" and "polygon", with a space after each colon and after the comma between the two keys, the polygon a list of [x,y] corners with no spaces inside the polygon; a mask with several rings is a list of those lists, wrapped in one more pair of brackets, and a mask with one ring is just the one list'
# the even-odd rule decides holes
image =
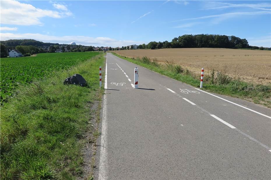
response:
{"label": "dark green woods on the horizon behind the harvested field", "polygon": [[[125,47],[124,47],[125,48]],[[198,34],[182,35],[175,37],[171,42],[149,42],[149,44],[138,45],[139,49],[160,49],[160,48],[251,48],[271,50],[258,46],[249,46],[247,39],[235,36]]]}

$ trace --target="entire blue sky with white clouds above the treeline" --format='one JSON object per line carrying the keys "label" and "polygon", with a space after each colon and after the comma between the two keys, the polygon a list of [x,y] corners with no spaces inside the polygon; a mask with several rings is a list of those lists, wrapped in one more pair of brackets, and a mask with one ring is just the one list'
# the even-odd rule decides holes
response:
{"label": "entire blue sky with white clouds above the treeline", "polygon": [[1,40],[117,47],[184,34],[271,47],[271,1],[1,1]]}

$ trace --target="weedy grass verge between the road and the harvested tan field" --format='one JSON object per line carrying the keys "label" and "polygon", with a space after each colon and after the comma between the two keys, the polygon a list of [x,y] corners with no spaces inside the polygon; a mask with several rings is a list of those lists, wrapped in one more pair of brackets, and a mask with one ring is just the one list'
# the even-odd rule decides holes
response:
{"label": "weedy grass verge between the road and the harvested tan field", "polygon": [[[161,65],[157,62],[147,60],[144,57],[142,59],[129,58],[125,56],[112,53],[124,60],[133,62],[142,67],[155,71],[157,73],[166,75],[175,80],[190,84],[194,87],[200,86],[200,75],[192,74],[187,69],[182,69],[182,66],[173,64],[171,62]],[[235,98],[242,98],[249,100],[256,104],[261,104],[271,108],[271,86],[270,85],[255,85],[240,80],[234,80],[229,78],[226,74],[213,72],[214,75],[204,75],[203,90],[207,90],[214,93],[219,93]]]}

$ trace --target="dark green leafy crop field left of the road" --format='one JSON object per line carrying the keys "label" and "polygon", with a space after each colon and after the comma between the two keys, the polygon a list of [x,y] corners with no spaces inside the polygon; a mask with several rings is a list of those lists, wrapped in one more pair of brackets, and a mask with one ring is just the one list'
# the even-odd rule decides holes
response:
{"label": "dark green leafy crop field left of the road", "polygon": [[18,84],[43,78],[52,71],[68,69],[98,55],[98,52],[42,53],[31,57],[1,58],[1,102],[11,96]]}

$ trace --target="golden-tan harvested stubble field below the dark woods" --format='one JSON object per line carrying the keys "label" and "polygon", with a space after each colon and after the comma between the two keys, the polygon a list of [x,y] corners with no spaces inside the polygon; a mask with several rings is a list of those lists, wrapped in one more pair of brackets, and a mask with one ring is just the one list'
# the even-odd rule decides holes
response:
{"label": "golden-tan harvested stubble field below the dark woods", "polygon": [[127,57],[157,58],[160,62],[174,61],[194,73],[212,69],[227,73],[232,78],[258,84],[271,83],[271,51],[226,48],[174,48],[114,51]]}

